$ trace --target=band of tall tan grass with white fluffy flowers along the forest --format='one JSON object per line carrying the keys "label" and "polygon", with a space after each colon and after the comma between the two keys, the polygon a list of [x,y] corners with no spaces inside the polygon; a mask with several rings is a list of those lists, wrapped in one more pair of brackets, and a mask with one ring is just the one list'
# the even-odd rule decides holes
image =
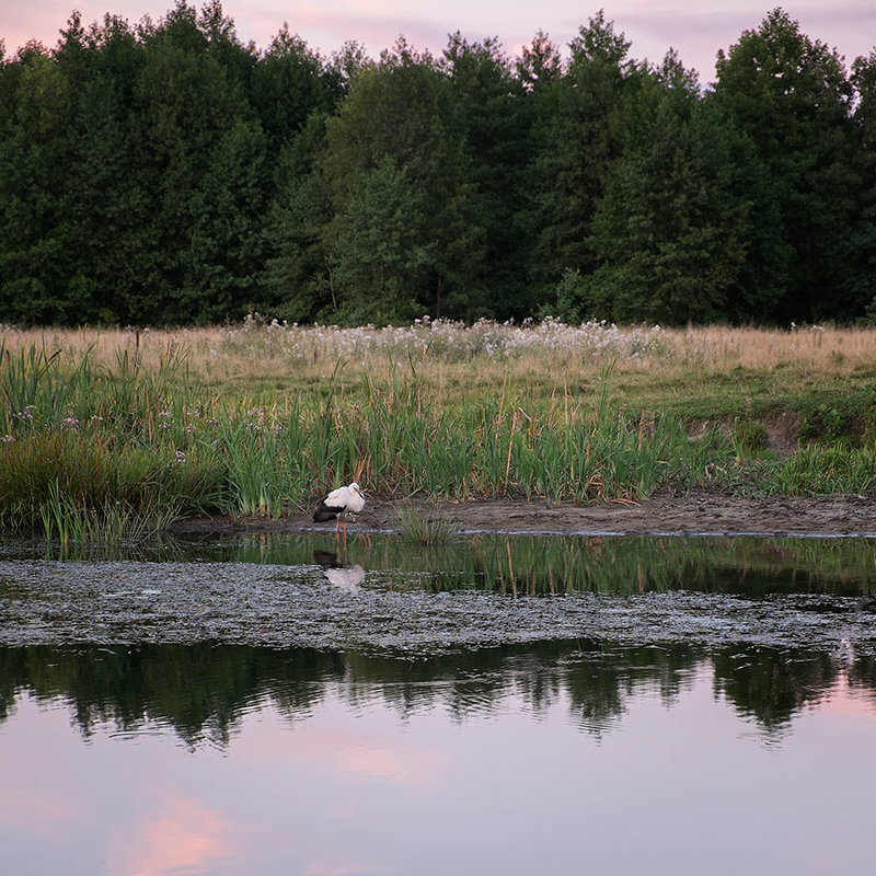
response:
{"label": "band of tall tan grass with white fluffy flowers along the forest", "polygon": [[[447,320],[417,320],[413,325],[373,328],[298,326],[254,314],[221,327],[175,330],[28,330],[0,325],[9,351],[44,348],[79,359],[87,350],[97,366],[113,366],[126,353],[148,371],[157,371],[168,350],[184,355],[203,381],[327,380],[345,362],[350,381],[362,372],[384,373],[390,361],[418,364],[431,378],[466,373],[479,383],[500,384],[539,371],[588,379],[616,360],[624,373],[653,374],[685,382],[691,376],[725,374],[745,380],[752,372],[774,371],[792,378],[869,376],[876,367],[876,330],[839,326],[789,326],[766,330],[731,326],[615,326],[606,323],[564,325],[498,324],[465,326]],[[438,373],[440,372],[440,373]]]}

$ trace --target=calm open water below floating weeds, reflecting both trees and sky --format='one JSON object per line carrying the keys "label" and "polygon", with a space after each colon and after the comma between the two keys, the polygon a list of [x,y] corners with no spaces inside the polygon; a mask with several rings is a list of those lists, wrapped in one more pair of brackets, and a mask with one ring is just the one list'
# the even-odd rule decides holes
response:
{"label": "calm open water below floating weeds, reflecting both trees and sky", "polygon": [[14,874],[871,874],[874,667],[5,649]]}

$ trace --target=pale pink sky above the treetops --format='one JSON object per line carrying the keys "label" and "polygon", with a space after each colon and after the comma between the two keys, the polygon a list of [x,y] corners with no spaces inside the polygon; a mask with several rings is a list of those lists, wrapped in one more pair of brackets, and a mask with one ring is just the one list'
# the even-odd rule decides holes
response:
{"label": "pale pink sky above the treetops", "polygon": [[[497,36],[510,55],[539,30],[565,48],[579,25],[601,7],[615,30],[632,42],[632,57],[659,61],[671,46],[706,83],[714,78],[717,50],[729,48],[742,31],[757,27],[780,4],[805,34],[835,47],[848,64],[876,45],[873,0],[595,0],[592,5],[578,0],[511,4],[507,0],[228,0],[223,9],[240,38],[260,48],[268,46],[286,21],[290,31],[325,55],[355,39],[377,57],[400,34],[418,49],[439,53],[454,31],[470,41]],[[50,48],[73,9],[87,24],[106,12],[135,24],[146,14],[157,21],[173,5],[174,0],[0,0],[0,39],[7,55],[28,39]]]}

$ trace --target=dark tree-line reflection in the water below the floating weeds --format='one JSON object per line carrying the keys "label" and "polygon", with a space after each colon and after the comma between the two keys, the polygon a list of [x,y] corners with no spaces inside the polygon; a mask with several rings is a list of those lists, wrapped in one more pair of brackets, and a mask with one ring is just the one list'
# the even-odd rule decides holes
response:
{"label": "dark tree-line reflection in the water below the floating weeds", "polygon": [[84,737],[110,726],[169,726],[187,744],[227,745],[243,716],[265,702],[290,721],[326,696],[351,707],[381,700],[402,718],[439,707],[456,721],[489,714],[508,698],[543,714],[562,704],[584,731],[615,726],[643,691],[667,704],[711,665],[715,695],[768,733],[787,728],[842,678],[876,703],[876,660],[766,648],[610,648],[548,643],[428,660],[361,653],[232,645],[137,648],[0,648],[0,721],[27,691],[61,701]]}

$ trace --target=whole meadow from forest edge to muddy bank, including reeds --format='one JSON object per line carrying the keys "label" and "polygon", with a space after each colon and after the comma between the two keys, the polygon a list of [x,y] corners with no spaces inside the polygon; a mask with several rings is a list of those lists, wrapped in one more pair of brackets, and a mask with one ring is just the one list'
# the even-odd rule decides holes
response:
{"label": "whole meadow from forest edge to muddy bank, including reeds", "polygon": [[0,331],[0,528],[118,540],[371,494],[876,493],[876,330]]}

